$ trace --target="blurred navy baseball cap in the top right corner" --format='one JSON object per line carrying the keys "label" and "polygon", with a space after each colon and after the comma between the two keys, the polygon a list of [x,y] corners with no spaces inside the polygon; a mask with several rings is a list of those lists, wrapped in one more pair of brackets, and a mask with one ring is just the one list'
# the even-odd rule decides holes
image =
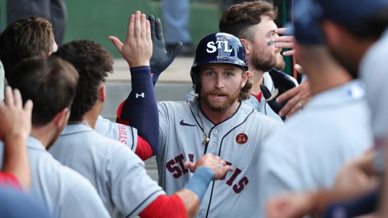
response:
{"label": "blurred navy baseball cap in the top right corner", "polygon": [[323,19],[338,22],[363,20],[388,8],[388,0],[316,0],[315,13]]}

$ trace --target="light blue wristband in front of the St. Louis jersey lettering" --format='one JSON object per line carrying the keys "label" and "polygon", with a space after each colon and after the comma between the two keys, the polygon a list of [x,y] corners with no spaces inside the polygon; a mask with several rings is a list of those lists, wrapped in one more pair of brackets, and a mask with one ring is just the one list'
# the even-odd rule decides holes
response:
{"label": "light blue wristband in front of the St. Louis jersey lettering", "polygon": [[214,178],[214,172],[208,167],[198,167],[193,177],[187,182],[185,188],[194,192],[198,198],[199,202],[202,202],[203,197],[205,196],[206,190],[209,187],[210,181]]}

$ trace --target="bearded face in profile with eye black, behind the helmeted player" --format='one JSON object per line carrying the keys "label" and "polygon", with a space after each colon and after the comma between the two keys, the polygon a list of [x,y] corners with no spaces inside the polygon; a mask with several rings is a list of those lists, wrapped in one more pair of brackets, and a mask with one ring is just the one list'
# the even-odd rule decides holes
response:
{"label": "bearded face in profile with eye black, behind the helmeted player", "polygon": [[281,48],[276,48],[271,39],[278,36],[275,33],[277,26],[268,16],[261,16],[261,21],[254,27],[252,52],[247,56],[249,64],[262,71],[268,71],[272,67],[283,70],[285,62],[280,54]]}

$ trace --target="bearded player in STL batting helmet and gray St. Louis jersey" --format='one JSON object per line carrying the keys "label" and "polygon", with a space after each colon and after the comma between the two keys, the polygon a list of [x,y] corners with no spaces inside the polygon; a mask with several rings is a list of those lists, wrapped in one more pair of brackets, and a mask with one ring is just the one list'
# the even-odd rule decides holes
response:
{"label": "bearded player in STL batting helmet and gray St. Louis jersey", "polygon": [[[193,173],[183,163],[204,154],[220,156],[234,171],[213,181],[198,217],[255,217],[260,143],[282,123],[241,104],[249,96],[245,49],[238,38],[213,33],[199,42],[192,67],[198,97],[159,102],[159,184],[167,194],[184,187]],[[131,104],[126,100],[124,104]],[[243,200],[242,200],[243,199]],[[236,210],[236,208],[239,208]]]}

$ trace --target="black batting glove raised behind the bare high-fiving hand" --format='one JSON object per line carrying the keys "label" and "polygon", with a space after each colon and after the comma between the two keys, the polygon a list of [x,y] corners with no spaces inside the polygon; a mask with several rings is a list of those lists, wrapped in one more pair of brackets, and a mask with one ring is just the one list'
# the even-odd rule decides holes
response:
{"label": "black batting glove raised behind the bare high-fiving hand", "polygon": [[148,16],[149,23],[151,24],[151,40],[152,40],[152,56],[149,61],[151,67],[152,81],[155,83],[158,81],[160,74],[174,61],[177,57],[181,42],[178,42],[170,51],[166,51],[162,23],[159,18],[155,20],[153,15]]}

